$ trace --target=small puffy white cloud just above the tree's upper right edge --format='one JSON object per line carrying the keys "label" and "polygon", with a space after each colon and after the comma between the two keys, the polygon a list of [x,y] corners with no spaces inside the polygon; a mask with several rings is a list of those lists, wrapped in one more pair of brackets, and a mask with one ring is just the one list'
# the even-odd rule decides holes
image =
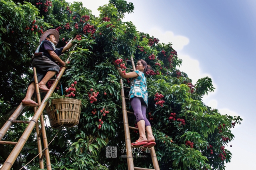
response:
{"label": "small puffy white cloud just above the tree's upper right edge", "polygon": [[174,36],[173,32],[166,31],[159,28],[152,28],[149,31],[150,36],[154,36],[158,38],[160,43],[169,43],[171,42],[173,45],[172,47],[177,50],[182,50],[185,45],[188,45],[189,39],[184,36]]}

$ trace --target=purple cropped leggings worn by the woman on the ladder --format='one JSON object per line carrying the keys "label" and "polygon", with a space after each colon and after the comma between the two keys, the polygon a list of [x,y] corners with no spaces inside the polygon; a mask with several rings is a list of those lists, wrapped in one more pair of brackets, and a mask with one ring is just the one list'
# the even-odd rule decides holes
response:
{"label": "purple cropped leggings worn by the woman on the ladder", "polygon": [[141,100],[143,100],[141,97],[133,97],[130,100],[132,109],[134,111],[134,115],[136,117],[136,122],[144,120],[145,127],[151,126],[146,117],[146,109],[147,109],[146,103],[144,103],[144,101],[142,102]]}

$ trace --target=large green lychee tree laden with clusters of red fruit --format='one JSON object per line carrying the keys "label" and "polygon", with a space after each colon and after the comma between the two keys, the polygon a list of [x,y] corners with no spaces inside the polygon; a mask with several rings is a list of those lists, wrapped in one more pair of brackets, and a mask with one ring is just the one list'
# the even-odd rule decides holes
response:
{"label": "large green lychee tree laden with clusters of red fruit", "polygon": [[[8,3],[2,0],[0,4],[3,7]],[[187,74],[178,70],[182,60],[178,58],[171,43],[159,43],[157,38],[138,32],[132,22],[122,22],[124,14],[134,10],[132,3],[110,0],[109,4],[98,8],[98,17],[93,16],[81,2],[68,4],[58,0],[35,0],[23,4],[9,4],[12,4],[10,8],[15,9],[18,6],[25,8],[29,4],[29,8],[39,11],[40,14],[32,15],[29,13],[31,10],[23,11],[23,16],[28,19],[22,20],[21,26],[15,22],[0,20],[4,23],[1,25],[2,30],[8,30],[10,25],[17,27],[16,32],[20,32],[21,36],[16,35],[14,39],[20,38],[21,42],[27,40],[27,45],[31,45],[30,50],[27,47],[16,50],[22,55],[10,55],[15,51],[12,48],[15,42],[8,42],[8,37],[15,34],[1,30],[0,43],[9,45],[10,48],[6,46],[5,50],[0,51],[1,59],[10,61],[8,67],[22,68],[12,73],[15,75],[19,72],[20,76],[8,77],[7,82],[12,89],[2,87],[15,91],[16,96],[19,96],[18,99],[8,98],[6,92],[1,91],[0,97],[5,97],[0,100],[0,106],[5,109],[5,113],[1,113],[3,117],[24,97],[21,91],[26,91],[26,83],[32,75],[28,69],[29,57],[38,44],[40,34],[48,28],[58,30],[59,47],[64,46],[71,38],[76,38],[72,51],[63,56],[70,57],[70,63],[61,83],[64,95],[72,93],[72,98],[82,100],[83,108],[79,125],[60,131],[58,138],[49,146],[54,169],[127,169],[126,158],[122,157],[126,153],[119,83],[121,77],[112,65],[112,60],[118,59],[122,71],[129,72],[126,67],[131,68],[130,63],[122,59],[130,59],[131,56],[135,62],[144,59],[151,65],[151,70],[146,73],[149,95],[147,116],[156,138],[155,150],[160,169],[225,169],[224,163],[230,162],[232,156],[227,150],[228,142],[234,139],[231,128],[240,124],[242,119],[239,116],[221,115],[218,110],[203,103],[202,97],[214,90],[212,80],[205,77],[193,85]],[[3,13],[0,15],[1,19],[2,16],[7,17]],[[15,17],[9,20],[15,20]],[[35,28],[37,22],[40,24]],[[6,72],[2,67],[0,70]],[[15,83],[17,80],[22,82],[22,86],[14,89],[14,85],[18,86]],[[129,82],[129,79],[124,79],[125,86]],[[56,89],[56,93],[61,94],[60,91]],[[125,93],[127,95],[128,91]],[[129,103],[127,106],[129,109]],[[26,120],[31,114],[26,111],[25,116],[20,119]],[[129,124],[136,126],[134,116],[129,116]],[[50,127],[46,129],[50,141],[57,130]],[[135,141],[138,132],[134,130],[130,133],[132,141]],[[5,138],[11,140],[14,136],[18,134],[12,131]],[[36,150],[30,151],[37,147],[35,140],[32,135],[18,157],[17,160],[22,164],[36,155]],[[106,158],[107,146],[118,148],[117,158]],[[9,146],[6,149],[10,149]],[[150,154],[138,154],[144,157],[134,158],[134,165],[152,168]],[[34,160],[27,167],[37,169],[38,161]]]}

